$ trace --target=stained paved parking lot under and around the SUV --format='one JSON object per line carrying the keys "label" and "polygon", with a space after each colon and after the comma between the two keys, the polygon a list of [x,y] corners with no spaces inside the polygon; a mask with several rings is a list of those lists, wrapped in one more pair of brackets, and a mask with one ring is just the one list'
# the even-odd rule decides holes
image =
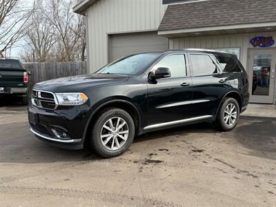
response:
{"label": "stained paved parking lot under and around the SUV", "polygon": [[39,141],[25,106],[0,106],[0,206],[275,206],[276,119],[137,137],[121,157]]}

